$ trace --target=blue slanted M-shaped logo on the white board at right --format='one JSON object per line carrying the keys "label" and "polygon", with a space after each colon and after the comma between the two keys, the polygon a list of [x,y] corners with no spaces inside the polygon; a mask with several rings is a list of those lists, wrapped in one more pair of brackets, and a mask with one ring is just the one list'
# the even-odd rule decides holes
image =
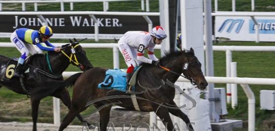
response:
{"label": "blue slanted M-shaped logo on the white board at right", "polygon": [[218,30],[218,32],[221,33],[228,23],[230,23],[230,25],[226,30],[227,33],[230,33],[235,25],[237,25],[235,33],[239,33],[240,30],[241,30],[241,27],[244,23],[244,20],[243,19],[235,19],[235,20],[234,19],[227,19],[222,23],[222,25],[220,26],[220,29]]}

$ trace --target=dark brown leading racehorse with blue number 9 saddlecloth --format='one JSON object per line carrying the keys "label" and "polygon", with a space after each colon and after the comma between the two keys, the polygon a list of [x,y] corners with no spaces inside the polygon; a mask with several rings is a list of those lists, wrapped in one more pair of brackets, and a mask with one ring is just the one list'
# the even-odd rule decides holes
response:
{"label": "dark brown leading racehorse with blue number 9 saddlecloth", "polygon": [[[162,68],[143,63],[139,69],[135,85],[136,91],[139,92],[135,94],[139,110],[145,112],[154,111],[163,123],[167,124],[166,128],[168,131],[174,130],[169,113],[181,118],[188,125],[189,131],[193,131],[188,116],[179,107],[175,107],[176,104],[173,101],[175,88],[169,86],[166,82],[174,84],[179,76],[182,76],[180,74],[183,73],[183,77],[190,80],[193,85],[196,85],[201,90],[205,89],[208,83],[202,73],[201,63],[192,48],[190,51],[166,52],[165,56],[160,59],[160,63]],[[72,106],[63,119],[59,131],[63,131],[75,116],[87,109],[90,104],[93,104],[99,110],[100,130],[107,131],[110,109],[113,103],[127,109],[136,109],[131,96],[128,98],[122,97],[129,96],[125,92],[98,88],[99,84],[105,81],[106,71],[108,70],[103,67],[95,67],[86,72],[74,74],[62,83],[56,82],[55,84],[58,86],[52,87],[51,90],[36,90],[37,93],[34,97],[45,97],[43,96],[44,93],[74,86]],[[112,83],[112,81],[105,82],[106,84]]]}

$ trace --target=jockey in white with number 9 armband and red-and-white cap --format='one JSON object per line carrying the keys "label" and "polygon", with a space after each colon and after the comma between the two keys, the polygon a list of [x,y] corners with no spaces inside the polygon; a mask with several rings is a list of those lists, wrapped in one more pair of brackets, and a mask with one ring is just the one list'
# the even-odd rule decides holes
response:
{"label": "jockey in white with number 9 armband and red-and-white cap", "polygon": [[[163,27],[156,26],[152,29],[151,33],[145,31],[128,31],[119,39],[118,48],[128,66],[126,72],[126,90],[129,90],[129,82],[133,76],[136,62],[138,65],[142,62],[156,66],[161,65],[158,61],[159,59],[154,55],[154,47],[156,44],[161,44],[166,37]],[[144,50],[147,48],[150,59],[144,56]],[[130,91],[133,90],[131,89]]]}

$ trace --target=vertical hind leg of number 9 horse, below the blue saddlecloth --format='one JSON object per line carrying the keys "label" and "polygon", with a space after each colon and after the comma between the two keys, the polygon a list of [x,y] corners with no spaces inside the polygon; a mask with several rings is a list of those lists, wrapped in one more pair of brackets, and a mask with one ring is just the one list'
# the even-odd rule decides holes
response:
{"label": "vertical hind leg of number 9 horse, below the blue saddlecloth", "polygon": [[[98,105],[95,105],[97,108]],[[110,110],[112,105],[105,106],[99,111],[100,114],[100,131],[107,131],[107,125],[110,120]]]}

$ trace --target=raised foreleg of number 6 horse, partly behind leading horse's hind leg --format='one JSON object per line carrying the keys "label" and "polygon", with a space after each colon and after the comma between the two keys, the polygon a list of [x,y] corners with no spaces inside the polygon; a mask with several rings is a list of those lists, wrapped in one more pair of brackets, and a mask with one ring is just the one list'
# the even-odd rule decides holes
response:
{"label": "raised foreleg of number 6 horse, partly behind leading horse's hind leg", "polygon": [[[64,103],[64,105],[67,106],[69,109],[71,108],[71,98],[70,98],[69,92],[66,88],[63,88],[58,93],[54,93],[54,96],[56,98],[59,98]],[[95,128],[94,125],[92,125],[92,124],[88,123],[87,121],[85,121],[80,114],[77,114],[76,117],[78,118],[78,120],[81,123],[87,123],[89,129],[94,129]]]}

